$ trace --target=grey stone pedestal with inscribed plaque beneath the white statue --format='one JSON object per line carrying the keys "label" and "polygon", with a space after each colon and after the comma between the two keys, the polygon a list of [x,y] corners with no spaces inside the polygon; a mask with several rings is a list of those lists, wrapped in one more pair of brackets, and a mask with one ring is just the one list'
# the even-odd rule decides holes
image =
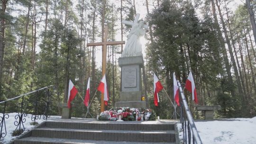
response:
{"label": "grey stone pedestal with inscribed plaque beneath the white statue", "polygon": [[118,63],[121,67],[121,91],[120,101],[115,103],[115,107],[146,108],[146,101],[141,100],[143,57],[121,57]]}

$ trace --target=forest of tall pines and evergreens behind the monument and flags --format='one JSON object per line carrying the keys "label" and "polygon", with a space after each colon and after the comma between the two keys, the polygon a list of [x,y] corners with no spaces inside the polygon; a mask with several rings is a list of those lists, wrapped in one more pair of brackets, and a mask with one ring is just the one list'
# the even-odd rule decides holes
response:
{"label": "forest of tall pines and evergreens behind the monument and flags", "polygon": [[[92,96],[101,80],[101,63],[96,61],[101,47],[86,44],[103,39],[104,25],[109,41],[126,40],[131,27],[121,19],[132,21],[143,7],[149,25],[143,86],[150,108],[161,118],[173,114],[164,92],[159,107],[153,104],[153,72],[173,99],[173,72],[185,83],[192,70],[199,105],[220,105],[217,117],[255,117],[256,1],[240,3],[230,9],[233,0],[1,0],[0,101],[55,85],[52,115],[60,115],[67,81],[84,96],[89,77]],[[119,101],[118,58],[123,48],[108,46],[107,109]],[[96,94],[90,107],[93,116],[100,112],[101,94]],[[194,117],[200,118],[190,94],[185,94]],[[79,97],[74,103],[73,117],[82,117],[86,107]]]}

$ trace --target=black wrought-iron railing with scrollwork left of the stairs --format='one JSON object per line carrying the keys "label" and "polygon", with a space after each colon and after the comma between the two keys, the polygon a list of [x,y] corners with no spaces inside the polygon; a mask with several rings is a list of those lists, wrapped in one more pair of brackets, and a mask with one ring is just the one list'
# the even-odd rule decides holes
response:
{"label": "black wrought-iron railing with scrollwork left of the stairs", "polygon": [[[0,102],[0,108],[3,108],[3,110],[0,110],[0,113],[2,113],[2,116],[0,116],[0,140],[7,135],[5,120],[9,118],[7,112],[13,112],[13,107],[16,107],[16,112],[18,113],[14,117],[16,119],[14,125],[17,126],[14,130],[14,132],[17,131],[16,135],[20,135],[25,131],[23,123],[26,122],[27,112],[32,114],[31,120],[34,122],[34,125],[37,119],[41,119],[41,116],[45,120],[50,117],[51,87],[53,85]],[[11,107],[9,108],[10,110],[7,110],[8,107]]]}

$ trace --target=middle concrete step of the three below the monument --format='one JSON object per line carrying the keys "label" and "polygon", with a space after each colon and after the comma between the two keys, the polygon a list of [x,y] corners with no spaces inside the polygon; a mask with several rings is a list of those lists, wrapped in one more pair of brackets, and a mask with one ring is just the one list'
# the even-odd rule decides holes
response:
{"label": "middle concrete step of the three below the monument", "polygon": [[32,137],[126,142],[175,142],[174,130],[131,131],[42,127],[32,130]]}

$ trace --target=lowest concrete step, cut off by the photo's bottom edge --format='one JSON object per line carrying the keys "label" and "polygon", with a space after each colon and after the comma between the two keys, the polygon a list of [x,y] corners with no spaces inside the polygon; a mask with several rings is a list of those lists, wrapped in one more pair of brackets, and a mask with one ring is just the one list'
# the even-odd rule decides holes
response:
{"label": "lowest concrete step, cut off by the photo's bottom edge", "polygon": [[175,144],[175,143],[143,143],[143,142],[110,142],[110,141],[92,141],[77,139],[59,139],[49,137],[26,137],[18,139],[14,144]]}

